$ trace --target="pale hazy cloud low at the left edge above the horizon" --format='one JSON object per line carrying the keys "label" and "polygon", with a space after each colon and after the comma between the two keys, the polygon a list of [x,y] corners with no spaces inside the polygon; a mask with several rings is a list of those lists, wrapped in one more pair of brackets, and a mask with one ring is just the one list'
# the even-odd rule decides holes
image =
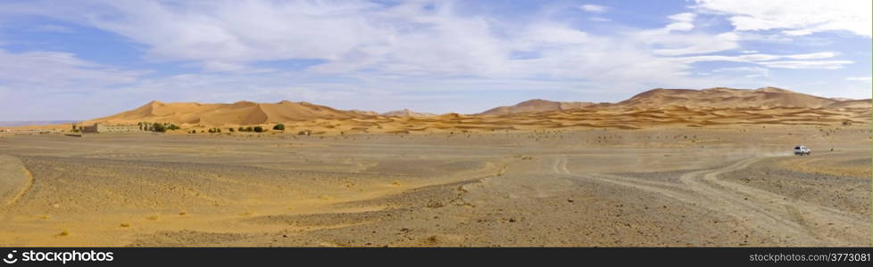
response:
{"label": "pale hazy cloud low at the left edge above the horizon", "polygon": [[[116,69],[83,61],[71,53],[33,51],[11,53],[0,49],[0,119],[53,120],[82,119],[107,115],[116,97],[94,97],[94,93],[123,91],[135,85],[145,71]],[[121,109],[116,109],[121,110]],[[101,113],[104,112],[104,113]]]}

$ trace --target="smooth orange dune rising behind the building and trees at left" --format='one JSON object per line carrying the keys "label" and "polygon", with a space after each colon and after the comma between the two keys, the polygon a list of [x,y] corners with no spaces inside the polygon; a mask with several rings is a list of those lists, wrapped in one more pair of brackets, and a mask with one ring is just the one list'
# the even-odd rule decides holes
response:
{"label": "smooth orange dune rising behind the building and trees at left", "polygon": [[84,122],[84,124],[136,124],[148,121],[196,125],[258,125],[318,118],[372,116],[365,111],[333,109],[308,102],[256,103],[238,101],[232,104],[202,104],[198,102],[163,103],[151,101],[137,109],[109,117],[96,118]]}

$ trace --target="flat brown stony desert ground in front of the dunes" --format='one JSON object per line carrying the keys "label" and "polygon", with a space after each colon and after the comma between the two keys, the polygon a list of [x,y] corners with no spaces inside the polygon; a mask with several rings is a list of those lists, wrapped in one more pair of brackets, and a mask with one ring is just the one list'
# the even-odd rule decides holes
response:
{"label": "flat brown stony desert ground in front of the dunes", "polygon": [[869,125],[6,135],[0,246],[869,246],[870,148]]}

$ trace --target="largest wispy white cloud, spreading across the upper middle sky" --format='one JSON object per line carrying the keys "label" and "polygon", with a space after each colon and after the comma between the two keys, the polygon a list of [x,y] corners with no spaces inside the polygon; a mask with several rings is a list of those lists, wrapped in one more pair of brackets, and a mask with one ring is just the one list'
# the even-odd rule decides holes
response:
{"label": "largest wispy white cloud, spreading across the upper middle sky", "polygon": [[[622,69],[636,69],[651,73],[647,77],[663,79],[684,73],[687,66],[667,66],[674,62],[659,59],[660,55],[709,53],[736,46],[729,34],[709,41],[712,37],[703,34],[669,36],[668,30],[655,33],[654,38],[630,32],[634,37],[625,39],[590,36],[559,21],[518,26],[482,15],[462,15],[453,2],[442,1],[390,6],[336,1],[96,1],[62,5],[54,12],[30,12],[126,36],[145,44],[146,56],[153,61],[195,62],[212,72],[257,72],[264,69],[251,67],[254,62],[320,59],[325,63],[306,71],[604,79],[613,77],[589,73],[614,71],[628,77],[621,74]],[[687,22],[694,20],[694,14],[677,14],[669,20]],[[664,49],[653,53],[650,45]],[[536,57],[513,58],[517,53]]]}

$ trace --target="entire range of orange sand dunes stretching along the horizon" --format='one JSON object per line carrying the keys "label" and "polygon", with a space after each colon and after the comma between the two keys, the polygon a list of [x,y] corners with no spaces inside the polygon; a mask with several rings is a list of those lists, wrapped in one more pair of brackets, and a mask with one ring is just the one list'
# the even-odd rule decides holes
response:
{"label": "entire range of orange sand dunes stretching along the horizon", "polygon": [[[433,115],[402,109],[385,114],[341,110],[307,102],[280,101],[232,104],[152,101],[137,109],[84,122],[137,124],[174,123],[185,131],[283,123],[273,134],[431,134],[543,129],[620,128],[712,125],[842,125],[870,124],[870,100],[837,101],[785,89],[711,88],[653,89],[617,103],[523,101],[483,113]],[[70,125],[18,127],[24,130],[68,130]],[[229,129],[228,131],[230,132]]]}

